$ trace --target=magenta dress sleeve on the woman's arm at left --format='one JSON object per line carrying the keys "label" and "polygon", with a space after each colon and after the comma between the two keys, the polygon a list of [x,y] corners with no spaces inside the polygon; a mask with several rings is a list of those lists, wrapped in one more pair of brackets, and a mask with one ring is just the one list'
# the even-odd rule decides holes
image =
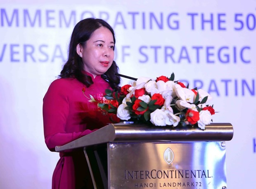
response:
{"label": "magenta dress sleeve on the woman's arm at left", "polygon": [[[49,150],[64,145],[94,130],[67,133],[66,121],[69,115],[68,88],[59,79],[52,82],[43,99],[43,124],[45,143]],[[96,129],[95,129],[96,130]]]}

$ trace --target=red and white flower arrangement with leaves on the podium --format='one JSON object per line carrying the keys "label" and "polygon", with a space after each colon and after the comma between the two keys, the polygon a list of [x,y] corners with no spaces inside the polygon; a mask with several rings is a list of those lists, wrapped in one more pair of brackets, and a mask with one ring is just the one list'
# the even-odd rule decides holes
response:
{"label": "red and white flower arrangement with leaves on the podium", "polygon": [[105,90],[100,100],[90,96],[91,102],[98,107],[116,115],[120,121],[133,121],[154,126],[199,127],[212,122],[215,114],[212,97],[202,89],[190,90],[183,83],[171,77],[157,77],[152,80],[140,77],[121,90]]}

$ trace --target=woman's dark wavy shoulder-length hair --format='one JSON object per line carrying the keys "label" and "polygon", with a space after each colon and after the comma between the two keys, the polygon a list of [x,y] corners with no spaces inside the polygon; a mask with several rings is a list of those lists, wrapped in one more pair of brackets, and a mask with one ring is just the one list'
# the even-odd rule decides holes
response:
{"label": "woman's dark wavy shoulder-length hair", "polygon": [[[76,46],[78,44],[84,45],[85,42],[90,39],[92,33],[100,27],[108,28],[111,31],[114,44],[116,44],[114,30],[106,21],[97,18],[86,18],[81,20],[73,29],[69,43],[69,57],[60,72],[60,78],[76,78],[86,87],[89,87],[93,83],[92,78],[82,72],[83,61],[76,52]],[[119,89],[120,77],[115,75],[118,71],[119,68],[116,65],[116,62],[113,61],[111,67],[101,75],[101,77],[109,83],[112,89]]]}

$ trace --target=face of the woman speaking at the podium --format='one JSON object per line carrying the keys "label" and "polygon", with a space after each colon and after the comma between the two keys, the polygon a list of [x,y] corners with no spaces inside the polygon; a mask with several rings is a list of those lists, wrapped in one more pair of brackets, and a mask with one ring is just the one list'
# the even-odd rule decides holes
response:
{"label": "face of the woman speaking at the podium", "polygon": [[92,33],[84,47],[77,45],[76,52],[82,57],[85,71],[94,78],[104,74],[114,60],[114,39],[111,31],[101,26]]}

